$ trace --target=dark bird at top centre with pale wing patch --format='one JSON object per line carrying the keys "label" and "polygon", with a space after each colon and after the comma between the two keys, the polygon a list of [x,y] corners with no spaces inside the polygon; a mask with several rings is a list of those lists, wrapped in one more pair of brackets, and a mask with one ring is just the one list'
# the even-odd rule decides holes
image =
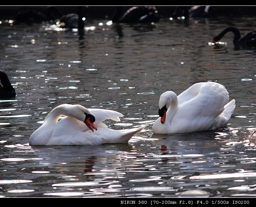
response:
{"label": "dark bird at top centre with pale wing patch", "polygon": [[159,22],[161,16],[155,6],[135,6],[123,15],[123,6],[117,6],[112,16],[113,23],[151,23]]}

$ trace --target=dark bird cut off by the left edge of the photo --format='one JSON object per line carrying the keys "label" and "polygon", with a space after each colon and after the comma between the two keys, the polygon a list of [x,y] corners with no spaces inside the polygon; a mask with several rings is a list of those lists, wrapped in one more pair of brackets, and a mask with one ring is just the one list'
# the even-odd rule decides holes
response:
{"label": "dark bird cut off by the left edge of the photo", "polygon": [[12,98],[16,96],[16,91],[4,70],[0,70],[0,98]]}

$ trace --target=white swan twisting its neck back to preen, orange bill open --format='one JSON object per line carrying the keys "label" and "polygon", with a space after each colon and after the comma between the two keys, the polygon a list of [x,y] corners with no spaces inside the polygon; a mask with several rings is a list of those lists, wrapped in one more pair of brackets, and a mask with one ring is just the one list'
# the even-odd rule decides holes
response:
{"label": "white swan twisting its neck back to preen, orange bill open", "polygon": [[[61,116],[66,116],[60,121]],[[106,109],[87,109],[81,105],[62,104],[46,116],[43,124],[31,134],[30,145],[99,145],[123,143],[145,128],[113,130],[102,121],[120,121],[123,114]],[[95,130],[94,130],[95,129]]]}

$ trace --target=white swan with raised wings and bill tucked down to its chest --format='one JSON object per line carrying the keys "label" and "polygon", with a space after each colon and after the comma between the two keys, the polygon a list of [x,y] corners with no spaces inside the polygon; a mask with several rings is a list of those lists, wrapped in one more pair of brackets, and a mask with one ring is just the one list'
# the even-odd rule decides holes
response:
{"label": "white swan with raised wings and bill tucked down to its chest", "polygon": [[153,124],[154,134],[178,134],[223,128],[236,107],[229,103],[225,87],[215,82],[196,83],[176,95],[166,91],[159,99],[159,118]]}

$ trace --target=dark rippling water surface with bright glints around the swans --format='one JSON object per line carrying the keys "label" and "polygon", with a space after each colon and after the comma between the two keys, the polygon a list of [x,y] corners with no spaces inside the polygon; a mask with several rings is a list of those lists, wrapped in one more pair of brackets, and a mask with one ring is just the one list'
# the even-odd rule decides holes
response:
{"label": "dark rippling water surface with bright glints around the swans", "polygon": [[[0,24],[0,69],[17,93],[0,100],[0,197],[256,197],[256,49],[234,48],[231,33],[208,44],[227,26],[255,30],[255,17],[107,22],[86,21],[83,36]],[[206,81],[236,99],[227,128],[152,133],[163,92]],[[125,144],[31,147],[30,135],[62,103],[123,113],[106,122],[113,129],[147,127]]]}

